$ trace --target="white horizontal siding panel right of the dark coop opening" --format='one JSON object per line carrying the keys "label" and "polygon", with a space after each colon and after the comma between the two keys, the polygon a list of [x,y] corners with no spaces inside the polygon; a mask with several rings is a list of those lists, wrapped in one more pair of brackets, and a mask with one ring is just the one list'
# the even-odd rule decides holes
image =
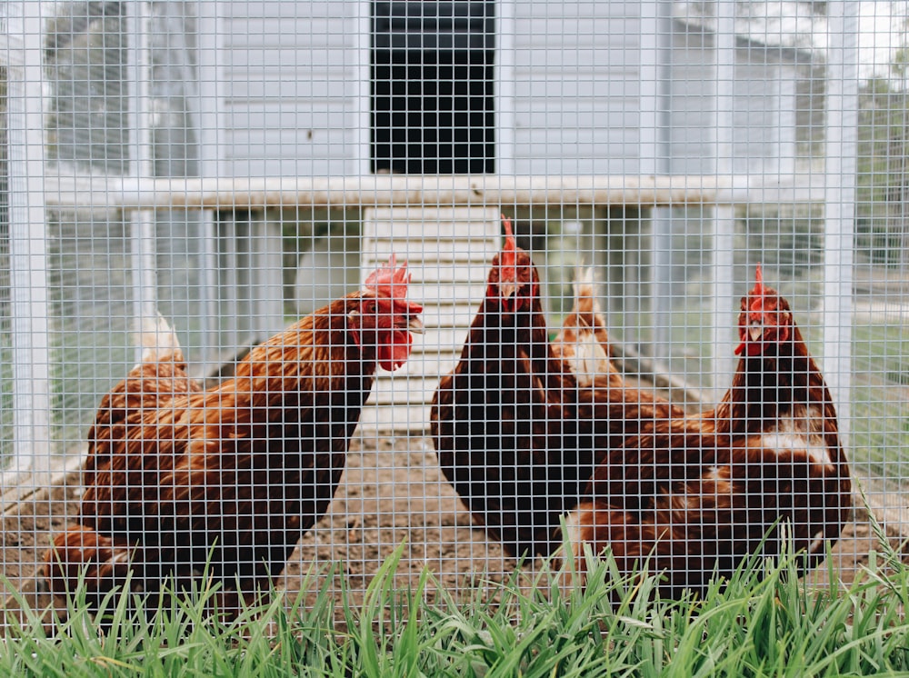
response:
{"label": "white horizontal siding panel right of the dark coop opening", "polygon": [[514,5],[514,172],[638,171],[642,5]]}

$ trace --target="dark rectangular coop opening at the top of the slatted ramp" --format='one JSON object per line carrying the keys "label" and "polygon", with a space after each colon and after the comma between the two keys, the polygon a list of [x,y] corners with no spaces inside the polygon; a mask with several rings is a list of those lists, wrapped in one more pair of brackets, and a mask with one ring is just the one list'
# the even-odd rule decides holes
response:
{"label": "dark rectangular coop opening at the top of the slatted ramp", "polygon": [[495,171],[494,3],[373,3],[372,171]]}

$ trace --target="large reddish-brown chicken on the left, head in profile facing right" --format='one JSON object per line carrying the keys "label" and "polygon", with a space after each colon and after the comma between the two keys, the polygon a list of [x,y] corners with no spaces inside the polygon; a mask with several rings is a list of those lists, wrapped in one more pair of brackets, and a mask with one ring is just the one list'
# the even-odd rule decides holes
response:
{"label": "large reddish-brown chicken on the left, head in profile facing right", "polygon": [[105,396],[89,433],[79,525],[46,556],[53,593],[85,571],[89,603],[132,572],[152,591],[209,571],[235,613],[266,589],[331,502],[376,366],[395,370],[422,330],[395,257],[363,289],[255,347],[202,391],[167,331]]}

